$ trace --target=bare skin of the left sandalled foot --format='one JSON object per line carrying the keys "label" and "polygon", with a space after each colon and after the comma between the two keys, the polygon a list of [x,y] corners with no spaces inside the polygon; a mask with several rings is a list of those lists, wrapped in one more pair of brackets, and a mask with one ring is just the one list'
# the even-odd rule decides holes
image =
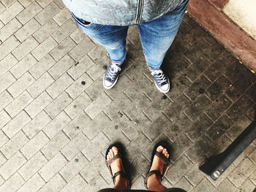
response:
{"label": "bare skin of the left sandalled foot", "polygon": [[[115,155],[118,154],[118,148],[112,147],[110,151],[108,152],[107,159],[110,161],[111,158],[113,158]],[[113,163],[110,165],[113,175],[115,175],[116,172],[124,172],[124,166],[122,164],[121,158],[117,158]],[[116,183],[114,188],[118,190],[124,190],[128,188],[128,179],[126,177],[122,177],[121,175],[118,175],[116,177]]]}

